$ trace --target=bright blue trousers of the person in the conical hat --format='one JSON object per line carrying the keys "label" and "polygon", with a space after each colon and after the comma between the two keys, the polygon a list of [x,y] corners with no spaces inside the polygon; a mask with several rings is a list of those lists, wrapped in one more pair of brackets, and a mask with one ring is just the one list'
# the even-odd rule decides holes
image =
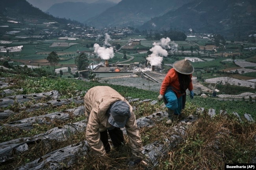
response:
{"label": "bright blue trousers of the person in the conical hat", "polygon": [[175,115],[180,115],[182,110],[182,97],[177,98],[176,93],[169,89],[165,91],[164,98],[167,101],[165,103],[165,106],[171,110],[174,110]]}

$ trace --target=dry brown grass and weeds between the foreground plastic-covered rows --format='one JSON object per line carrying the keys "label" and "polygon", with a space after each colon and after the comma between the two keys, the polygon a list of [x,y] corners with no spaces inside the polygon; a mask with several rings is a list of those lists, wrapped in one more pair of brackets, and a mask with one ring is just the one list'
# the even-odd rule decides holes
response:
{"label": "dry brown grass and weeds between the foreground plastic-covered rows", "polygon": [[[46,102],[46,101],[38,101]],[[29,104],[28,104],[29,105]],[[23,105],[13,106],[12,109],[19,110]],[[135,115],[137,118],[149,116],[152,113],[164,111],[162,105],[151,105],[150,102],[132,103],[135,107]],[[41,108],[34,112],[26,113],[24,111],[17,115],[6,119],[1,123],[18,121],[26,117],[43,115],[68,108],[74,108],[74,105],[63,105],[56,108]],[[203,107],[203,106],[202,106]],[[192,104],[187,104],[182,111],[182,115],[173,125],[165,124],[166,119],[155,121],[152,127],[140,128],[140,135],[143,141],[143,146],[154,143],[155,141],[164,141],[170,137],[171,129],[181,120],[189,115],[197,115],[197,107]],[[85,119],[85,118],[79,118]],[[58,122],[55,124],[42,124],[36,126],[33,130],[20,131],[15,128],[2,128],[1,140],[8,141],[17,139],[18,137],[28,137],[35,134],[46,132],[53,127],[61,127],[69,122],[77,122],[76,118],[71,118],[68,122]],[[175,148],[169,149],[166,157],[161,157],[159,165],[152,170],[223,170],[224,163],[251,163],[252,157],[255,157],[255,123],[240,123],[234,115],[215,115],[210,118],[208,113],[203,112],[198,115],[198,119],[189,125],[186,130],[186,135],[183,143],[180,143]],[[29,163],[36,158],[66,147],[69,144],[77,144],[85,141],[85,132],[78,132],[65,142],[49,141],[48,143],[37,141],[29,143],[29,150],[14,154],[14,158],[10,161],[1,163],[0,170],[13,170]],[[126,143],[119,149],[112,148],[111,152],[104,158],[96,157],[91,154],[91,151],[85,156],[77,157],[76,163],[70,167],[63,169],[72,170],[144,170],[146,167],[142,164],[132,165],[132,153],[129,148],[128,138],[125,136]],[[164,143],[164,142],[163,142]]]}

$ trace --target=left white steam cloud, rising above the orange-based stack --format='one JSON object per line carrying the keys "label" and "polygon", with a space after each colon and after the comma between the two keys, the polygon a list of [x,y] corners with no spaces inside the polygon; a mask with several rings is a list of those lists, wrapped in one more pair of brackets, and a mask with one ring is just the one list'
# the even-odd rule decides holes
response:
{"label": "left white steam cloud, rising above the orange-based stack", "polygon": [[100,47],[99,44],[94,44],[94,52],[98,57],[100,57],[103,60],[109,60],[110,58],[114,57],[114,49],[112,47],[106,48],[106,46],[110,46],[108,41],[111,40],[110,36],[108,34],[105,34],[105,42],[104,47]]}

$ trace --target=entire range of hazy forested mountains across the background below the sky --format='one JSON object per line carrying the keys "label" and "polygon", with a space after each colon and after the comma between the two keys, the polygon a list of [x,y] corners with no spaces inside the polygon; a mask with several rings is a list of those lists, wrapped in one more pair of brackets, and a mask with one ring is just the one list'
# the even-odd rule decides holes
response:
{"label": "entire range of hazy forested mountains across the background below the sky", "polygon": [[27,15],[63,24],[80,24],[94,16],[83,24],[98,29],[130,26],[141,31],[192,30],[236,40],[256,34],[255,0],[122,0],[116,5],[100,0],[93,4],[65,2],[53,5],[48,11],[59,17],[42,12],[26,0],[2,0],[0,6],[0,14],[12,12],[11,17],[20,20],[22,15]]}

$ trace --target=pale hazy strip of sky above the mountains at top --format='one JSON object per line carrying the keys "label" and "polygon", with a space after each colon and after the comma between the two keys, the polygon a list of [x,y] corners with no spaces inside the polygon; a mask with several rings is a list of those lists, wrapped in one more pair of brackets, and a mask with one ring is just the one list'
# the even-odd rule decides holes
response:
{"label": "pale hazy strip of sky above the mountains at top", "polygon": [[[42,11],[46,11],[49,9],[53,4],[56,3],[62,3],[62,2],[87,2],[87,3],[93,3],[98,0],[26,0],[30,4],[32,4],[34,7],[38,7]],[[111,2],[120,2],[121,0],[108,0]]]}

